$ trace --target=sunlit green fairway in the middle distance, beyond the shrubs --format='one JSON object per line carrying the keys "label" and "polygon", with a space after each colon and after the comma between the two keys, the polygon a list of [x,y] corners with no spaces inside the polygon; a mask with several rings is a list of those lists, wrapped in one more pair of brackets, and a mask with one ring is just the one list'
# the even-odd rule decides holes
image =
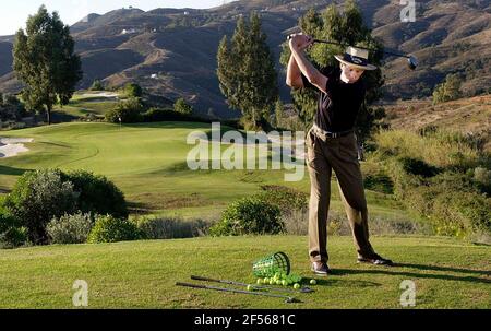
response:
{"label": "sunlit green fairway in the middle distance, beyond the shrubs", "polygon": [[[182,216],[216,216],[235,199],[260,191],[261,185],[284,185],[309,192],[307,169],[301,181],[284,181],[295,170],[190,170],[187,144],[192,131],[209,132],[205,123],[140,125],[63,123],[2,133],[33,138],[31,150],[0,159],[0,189],[12,188],[26,169],[86,169],[113,180],[132,208]],[[221,129],[224,131],[224,128]],[[221,146],[226,150],[228,146]],[[333,182],[333,208],[342,210]],[[405,217],[383,194],[368,191],[372,214]]]}

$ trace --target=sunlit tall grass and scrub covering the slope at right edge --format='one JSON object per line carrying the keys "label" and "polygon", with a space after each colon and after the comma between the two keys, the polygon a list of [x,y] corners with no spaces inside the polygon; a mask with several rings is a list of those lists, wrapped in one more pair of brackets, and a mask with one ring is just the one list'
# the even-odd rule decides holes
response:
{"label": "sunlit tall grass and scrub covering the slope at right edge", "polygon": [[395,130],[374,140],[370,161],[384,165],[395,198],[429,220],[436,234],[471,238],[491,233],[491,163],[479,139],[448,130]]}

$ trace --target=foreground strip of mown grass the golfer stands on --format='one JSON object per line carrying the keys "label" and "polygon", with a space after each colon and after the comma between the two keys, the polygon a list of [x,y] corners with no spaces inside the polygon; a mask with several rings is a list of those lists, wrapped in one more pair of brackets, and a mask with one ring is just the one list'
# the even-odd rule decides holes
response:
{"label": "foreground strip of mown grass the golfer stands on", "polygon": [[[316,277],[302,300],[178,287],[190,275],[254,282],[252,262],[285,251],[292,272],[311,279],[307,237],[264,236],[130,241],[0,250],[1,308],[73,308],[75,280],[89,308],[402,308],[400,283],[416,284],[415,308],[491,308],[491,249],[450,238],[374,237],[399,265],[355,262],[350,237],[330,239],[334,274]],[[203,282],[199,282],[203,283]],[[204,283],[206,284],[206,283]],[[212,284],[221,286],[221,284]],[[227,285],[225,285],[227,286]]]}

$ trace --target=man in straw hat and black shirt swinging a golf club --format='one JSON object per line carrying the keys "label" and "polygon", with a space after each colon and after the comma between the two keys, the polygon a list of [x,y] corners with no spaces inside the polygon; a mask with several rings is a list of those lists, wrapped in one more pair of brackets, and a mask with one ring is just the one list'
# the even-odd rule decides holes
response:
{"label": "man in straw hat and black shirt swinging a golf club", "polygon": [[363,181],[358,162],[355,120],[364,99],[364,70],[368,50],[348,47],[335,56],[339,68],[315,69],[303,50],[313,38],[297,34],[290,38],[291,57],[287,84],[294,88],[318,88],[319,104],[312,128],[307,133],[307,166],[311,181],[309,204],[309,256],[312,271],[319,275],[331,272],[327,264],[327,213],[331,198],[331,175],[336,173],[339,193],[349,220],[358,262],[391,265],[369,241],[368,211]]}

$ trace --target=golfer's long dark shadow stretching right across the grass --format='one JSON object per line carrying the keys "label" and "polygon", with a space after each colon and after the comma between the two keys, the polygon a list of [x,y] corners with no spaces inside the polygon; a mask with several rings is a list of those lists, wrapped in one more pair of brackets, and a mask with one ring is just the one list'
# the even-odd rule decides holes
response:
{"label": "golfer's long dark shadow stretching right across the grass", "polygon": [[[417,279],[436,279],[444,281],[456,281],[456,282],[470,282],[470,283],[483,283],[491,284],[491,280],[478,277],[478,276],[456,276],[448,275],[444,273],[440,274],[428,274],[418,272],[400,271],[398,268],[410,268],[420,271],[441,271],[441,272],[457,272],[457,273],[472,273],[483,276],[489,276],[489,271],[469,270],[469,269],[456,269],[436,265],[424,265],[424,264],[405,264],[397,263],[394,267],[374,267],[380,269],[373,270],[350,270],[350,269],[336,269],[333,271],[336,275],[349,275],[349,274],[385,274],[385,275],[398,275],[405,277],[417,277]],[[383,268],[383,269],[382,269]]]}

